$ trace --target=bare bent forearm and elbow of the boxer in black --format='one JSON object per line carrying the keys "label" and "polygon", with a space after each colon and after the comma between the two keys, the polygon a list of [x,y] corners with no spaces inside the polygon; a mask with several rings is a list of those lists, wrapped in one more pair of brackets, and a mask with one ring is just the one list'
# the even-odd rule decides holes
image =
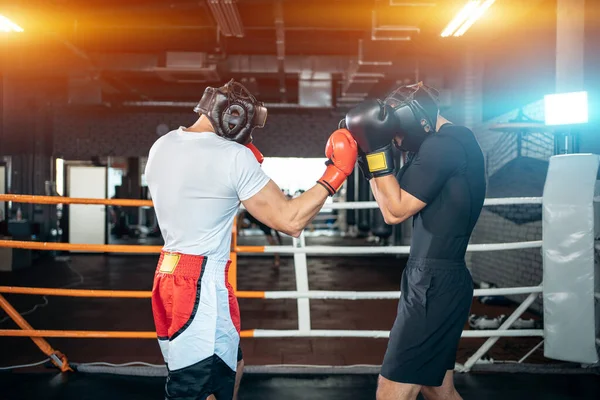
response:
{"label": "bare bent forearm and elbow of the boxer in black", "polygon": [[406,221],[427,204],[402,190],[394,175],[371,179],[371,191],[381,209],[386,224]]}

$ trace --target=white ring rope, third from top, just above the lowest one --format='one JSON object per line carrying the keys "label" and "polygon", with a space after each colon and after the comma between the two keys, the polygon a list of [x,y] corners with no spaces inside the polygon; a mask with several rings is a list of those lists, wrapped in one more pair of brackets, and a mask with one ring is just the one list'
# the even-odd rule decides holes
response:
{"label": "white ring rope, third from top, just above the lowest one", "polygon": [[[515,288],[493,288],[475,289],[473,297],[481,296],[508,296],[515,294],[542,293],[541,286],[515,287]],[[398,300],[399,291],[389,292],[352,292],[352,291],[329,291],[311,290],[308,292],[298,291],[271,291],[264,292],[265,299],[321,299],[321,300]]]}

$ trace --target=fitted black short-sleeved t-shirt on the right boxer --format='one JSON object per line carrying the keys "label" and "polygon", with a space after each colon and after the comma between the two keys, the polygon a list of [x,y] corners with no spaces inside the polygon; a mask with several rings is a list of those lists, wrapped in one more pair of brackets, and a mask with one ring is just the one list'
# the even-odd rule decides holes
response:
{"label": "fitted black short-sleeved t-shirt on the right boxer", "polygon": [[485,200],[485,163],[471,130],[446,124],[400,170],[400,187],[427,204],[413,217],[410,256],[464,259]]}

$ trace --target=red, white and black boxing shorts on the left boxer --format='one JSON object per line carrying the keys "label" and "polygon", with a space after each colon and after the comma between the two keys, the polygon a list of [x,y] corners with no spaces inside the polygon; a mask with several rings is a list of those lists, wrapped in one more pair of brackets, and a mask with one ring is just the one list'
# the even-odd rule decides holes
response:
{"label": "red, white and black boxing shorts on the left boxer", "polygon": [[169,375],[167,399],[233,396],[241,360],[240,311],[227,282],[230,261],[162,252],[152,312]]}

